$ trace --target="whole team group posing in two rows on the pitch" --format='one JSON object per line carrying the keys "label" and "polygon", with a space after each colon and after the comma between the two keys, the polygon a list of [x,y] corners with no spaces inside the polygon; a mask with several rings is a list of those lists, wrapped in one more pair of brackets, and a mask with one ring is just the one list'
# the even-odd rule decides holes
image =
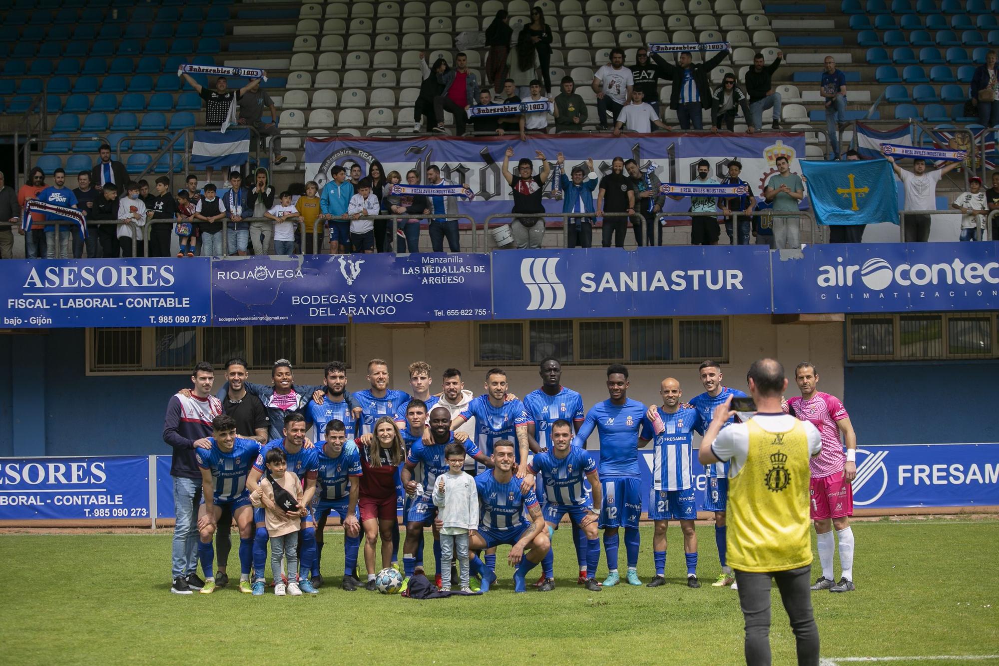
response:
{"label": "whole team group posing in two rows on the pitch", "polygon": [[[627,368],[610,365],[608,398],[588,411],[579,393],[561,385],[561,365],[553,358],[541,361],[541,386],[522,400],[509,391],[499,368],[487,373],[485,393],[478,397],[454,368],[444,373],[443,391],[432,394],[431,367],[423,361],[409,366],[412,394],[389,388],[384,360],[369,362],[370,387],[361,391],[347,390],[346,370],[342,363],[330,363],[322,385],[303,386],[295,384],[291,364],[279,360],[272,383],[263,385],[247,381],[246,363],[233,359],[225,368],[225,385],[213,395],[215,369],[208,363],[195,367],[193,386],[170,400],[163,433],[174,449],[172,592],[208,594],[228,584],[235,520],[242,592],[264,594],[270,543],[275,593],[316,594],[323,585],[323,535],[332,513],[345,533],[342,587],[349,591],[376,589],[377,570],[399,568],[401,544],[406,580],[423,572],[428,527],[434,534],[439,587],[451,589],[454,562],[460,565],[456,588],[488,591],[496,581],[497,546],[508,545],[514,590],[525,591],[528,572],[540,564],[535,586],[549,591],[555,585],[550,536],[566,514],[577,582],[593,592],[622,578],[637,586],[642,584],[638,521],[643,499],[654,521],[655,575],[647,587],[666,584],[670,520],[678,520],[682,528],[686,584],[700,587],[693,432],[707,433],[705,441],[708,435],[713,439],[735,421],[735,412],[728,411],[732,398],[745,397],[722,384],[715,361],[700,365],[702,393],[684,401],[679,382],[667,377],[652,405],[629,398]],[[816,390],[814,365],[798,365],[795,379],[801,396],[781,401],[781,408],[807,422],[816,455],[810,463],[811,518],[822,575],[812,589],[852,590],[849,516],[856,437],[842,403]],[[725,418],[712,426],[716,412]],[[307,437],[312,428],[315,443]],[[585,449],[594,431],[599,440],[595,461]],[[649,497],[643,498],[639,448],[649,441],[654,446],[652,483]],[[738,471],[717,448],[710,453],[705,460],[702,445],[700,458],[708,463],[703,509],[714,514],[721,567],[713,585],[737,588],[726,561],[733,539],[726,535],[725,516],[729,479]],[[623,576],[618,572],[621,529]],[[606,557],[602,582],[596,579],[598,530]],[[842,574],[834,582],[837,537]],[[362,539],[367,580],[358,570]],[[199,560],[204,578],[197,573]]]}

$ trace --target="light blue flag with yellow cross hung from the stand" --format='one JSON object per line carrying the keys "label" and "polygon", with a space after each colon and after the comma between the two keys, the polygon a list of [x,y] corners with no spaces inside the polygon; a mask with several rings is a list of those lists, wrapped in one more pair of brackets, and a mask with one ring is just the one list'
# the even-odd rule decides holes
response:
{"label": "light blue flag with yellow cross hung from the stand", "polygon": [[817,223],[898,224],[895,176],[888,160],[803,160],[801,170]]}

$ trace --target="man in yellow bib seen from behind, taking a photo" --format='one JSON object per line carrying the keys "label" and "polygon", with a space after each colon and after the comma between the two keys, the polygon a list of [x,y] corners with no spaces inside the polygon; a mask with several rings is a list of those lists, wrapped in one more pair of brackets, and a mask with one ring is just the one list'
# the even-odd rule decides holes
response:
{"label": "man in yellow bib seen from behind, taking a photo", "polygon": [[809,590],[808,461],[818,455],[822,438],[811,423],[781,411],[787,378],[779,362],[756,361],[746,379],[755,415],[722,430],[736,412],[732,398],[718,405],[698,453],[704,465],[729,463],[727,555],[745,618],[746,664],[770,663],[773,579],[791,621],[798,664],[818,666],[818,627]]}

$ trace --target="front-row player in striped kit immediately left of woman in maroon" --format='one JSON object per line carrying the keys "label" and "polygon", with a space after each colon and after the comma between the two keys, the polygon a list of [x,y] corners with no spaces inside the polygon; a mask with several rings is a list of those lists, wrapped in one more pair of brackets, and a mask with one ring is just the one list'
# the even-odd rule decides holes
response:
{"label": "front-row player in striped kit immediately left of woman in maroon", "polygon": [[361,523],[358,520],[358,493],[361,488],[361,453],[356,442],[347,441],[347,428],[340,419],[326,424],[326,444],[319,454],[316,477],[316,566],[313,587],[323,585],[320,565],[323,559],[323,531],[330,512],[336,511],[344,526],[344,582],[348,592],[358,589],[358,550]]}

